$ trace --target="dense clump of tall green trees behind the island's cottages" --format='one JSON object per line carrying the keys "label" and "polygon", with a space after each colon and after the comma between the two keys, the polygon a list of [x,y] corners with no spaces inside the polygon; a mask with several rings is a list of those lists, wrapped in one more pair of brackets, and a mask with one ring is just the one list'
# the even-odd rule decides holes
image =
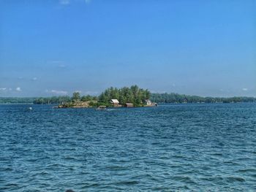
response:
{"label": "dense clump of tall green trees behind the island's cottages", "polygon": [[149,99],[150,92],[146,89],[139,88],[138,85],[132,85],[130,88],[113,88],[110,87],[99,95],[99,102],[108,104],[111,99],[118,99],[120,104],[127,102],[134,106],[141,106],[146,99]]}

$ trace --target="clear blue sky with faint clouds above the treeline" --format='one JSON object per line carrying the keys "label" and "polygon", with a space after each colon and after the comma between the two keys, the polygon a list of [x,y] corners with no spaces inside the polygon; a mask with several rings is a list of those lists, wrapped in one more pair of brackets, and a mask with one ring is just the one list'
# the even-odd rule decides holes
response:
{"label": "clear blue sky with faint clouds above the treeline", "polygon": [[1,0],[0,96],[256,96],[256,1]]}

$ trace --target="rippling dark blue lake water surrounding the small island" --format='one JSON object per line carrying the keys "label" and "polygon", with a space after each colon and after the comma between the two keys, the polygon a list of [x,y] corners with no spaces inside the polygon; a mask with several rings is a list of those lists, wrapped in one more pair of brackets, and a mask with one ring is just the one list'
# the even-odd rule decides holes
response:
{"label": "rippling dark blue lake water surrounding the small island", "polygon": [[0,105],[0,191],[256,191],[256,104]]}

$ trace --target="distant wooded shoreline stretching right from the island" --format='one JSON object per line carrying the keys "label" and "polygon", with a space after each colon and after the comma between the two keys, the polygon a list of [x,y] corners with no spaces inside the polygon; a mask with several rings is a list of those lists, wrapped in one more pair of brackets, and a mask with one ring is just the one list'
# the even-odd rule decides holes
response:
{"label": "distant wooded shoreline stretching right from the island", "polygon": [[255,102],[255,97],[234,96],[234,97],[202,97],[187,96],[178,93],[151,93],[151,101],[157,103],[237,103]]}

